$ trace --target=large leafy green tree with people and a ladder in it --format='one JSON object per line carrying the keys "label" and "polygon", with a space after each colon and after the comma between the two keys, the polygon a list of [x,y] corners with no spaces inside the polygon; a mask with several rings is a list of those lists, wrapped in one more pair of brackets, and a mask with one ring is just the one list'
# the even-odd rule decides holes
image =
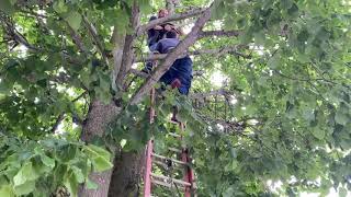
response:
{"label": "large leafy green tree with people and a ladder in it", "polygon": [[[166,4],[174,13],[148,22]],[[169,142],[172,105],[188,123],[200,196],[347,195],[349,10],[338,0],[1,0],[0,196],[140,194],[144,147]],[[144,34],[165,22],[191,31],[148,57]],[[186,53],[200,76],[191,94],[167,90],[149,124],[148,92]],[[138,71],[146,57],[159,61],[151,74]]]}

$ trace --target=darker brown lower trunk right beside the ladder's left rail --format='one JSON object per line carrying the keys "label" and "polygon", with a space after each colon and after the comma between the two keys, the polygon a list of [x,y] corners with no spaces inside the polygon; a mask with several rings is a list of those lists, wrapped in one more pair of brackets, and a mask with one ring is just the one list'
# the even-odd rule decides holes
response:
{"label": "darker brown lower trunk right beside the ladder's left rail", "polygon": [[140,152],[121,152],[115,157],[109,197],[137,197],[145,157]]}

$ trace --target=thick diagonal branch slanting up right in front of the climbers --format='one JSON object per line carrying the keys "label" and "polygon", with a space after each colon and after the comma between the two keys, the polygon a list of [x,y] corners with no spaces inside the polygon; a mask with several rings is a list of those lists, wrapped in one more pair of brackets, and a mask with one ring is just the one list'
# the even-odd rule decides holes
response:
{"label": "thick diagonal branch slanting up right in front of the climbers", "polygon": [[161,76],[172,66],[176,59],[195,43],[199,32],[211,18],[212,5],[207,8],[199,18],[188,36],[171,53],[167,55],[165,61],[156,68],[152,76],[149,77],[146,82],[137,90],[137,92],[132,96],[129,104],[138,103],[141,97],[152,88],[152,85],[158,82]]}

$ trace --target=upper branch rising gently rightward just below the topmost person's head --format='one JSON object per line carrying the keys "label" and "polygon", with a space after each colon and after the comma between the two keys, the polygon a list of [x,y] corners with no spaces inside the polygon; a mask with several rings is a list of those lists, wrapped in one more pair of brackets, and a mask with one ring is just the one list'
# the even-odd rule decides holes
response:
{"label": "upper branch rising gently rightward just below the topmost person's head", "polygon": [[141,25],[137,28],[136,32],[136,36],[139,36],[141,34],[144,34],[146,31],[148,31],[149,28],[161,24],[161,23],[166,23],[166,22],[171,22],[171,21],[180,21],[183,19],[188,19],[188,18],[192,18],[195,15],[200,15],[202,14],[206,9],[194,9],[194,10],[190,10],[188,12],[183,12],[183,13],[179,13],[179,14],[173,14],[173,15],[169,15],[166,18],[161,18],[161,19],[157,19],[157,20],[152,20],[150,21],[148,24]]}

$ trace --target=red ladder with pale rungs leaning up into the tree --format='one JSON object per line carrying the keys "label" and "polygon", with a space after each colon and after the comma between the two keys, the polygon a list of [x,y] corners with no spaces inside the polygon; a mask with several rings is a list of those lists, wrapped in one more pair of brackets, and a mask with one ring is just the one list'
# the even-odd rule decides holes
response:
{"label": "red ladder with pale rungs leaning up into the tree", "polygon": [[[155,117],[155,89],[150,92],[150,99],[151,99],[151,107],[150,107],[150,123],[154,123]],[[170,121],[172,124],[178,124],[180,127],[180,130],[184,130],[184,124],[182,123],[174,123]],[[177,138],[179,140],[182,139],[182,137],[174,132],[169,132],[169,136]],[[169,151],[174,152],[181,160],[159,155],[154,152],[154,140],[149,140],[147,143],[146,149],[146,166],[145,166],[145,177],[144,177],[144,197],[151,197],[151,189],[152,186],[159,185],[167,187],[169,189],[179,188],[183,189],[183,196],[184,197],[191,197],[192,194],[194,194],[195,190],[195,184],[194,184],[194,172],[191,167],[191,158],[189,155],[189,150],[186,148],[168,148]],[[183,169],[183,179],[177,179],[172,176],[167,175],[159,175],[156,173],[152,173],[152,164],[158,165],[178,165]]]}

